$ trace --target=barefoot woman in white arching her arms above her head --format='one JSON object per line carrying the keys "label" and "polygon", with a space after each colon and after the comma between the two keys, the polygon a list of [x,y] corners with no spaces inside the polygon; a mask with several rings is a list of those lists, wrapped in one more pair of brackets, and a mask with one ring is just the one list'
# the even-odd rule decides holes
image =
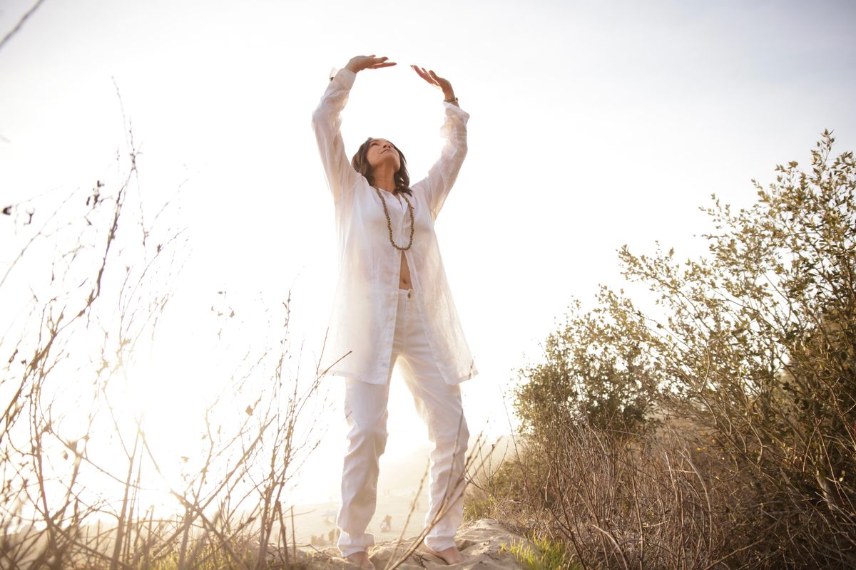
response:
{"label": "barefoot woman in white arching her arms above her head", "polygon": [[319,370],[344,377],[350,427],[337,545],[349,560],[373,567],[367,550],[374,537],[366,527],[375,513],[378,460],[388,435],[389,380],[401,356],[401,375],[434,444],[425,550],[454,564],[461,561],[455,531],[463,519],[469,438],[459,385],[478,370],[452,302],[434,221],[467,154],[469,115],[448,80],[411,66],[443,91],[446,143],[439,160],[412,186],[404,154],[384,138],[367,138],[348,162],[340,114],[357,73],[395,65],[387,59],[352,58],[330,78],[312,114],[339,245],[339,279]]}

